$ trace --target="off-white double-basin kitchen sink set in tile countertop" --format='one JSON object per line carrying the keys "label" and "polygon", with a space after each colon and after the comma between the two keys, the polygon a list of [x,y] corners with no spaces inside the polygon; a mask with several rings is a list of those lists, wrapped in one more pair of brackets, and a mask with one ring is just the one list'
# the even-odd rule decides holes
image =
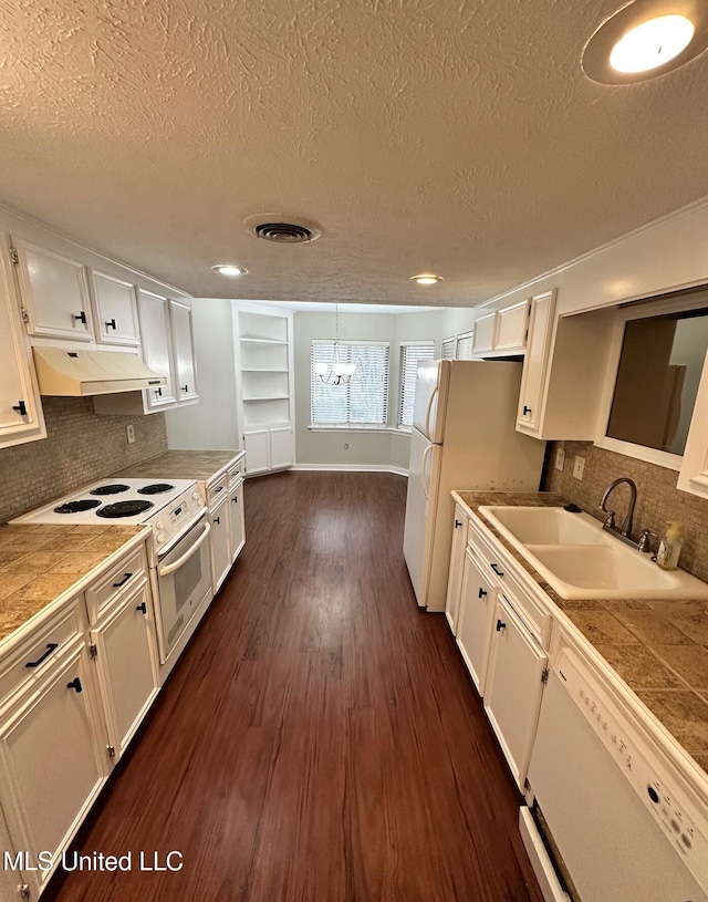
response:
{"label": "off-white double-basin kitchen sink set in tile countertop", "polygon": [[480,507],[479,512],[564,599],[708,599],[708,583],[662,570],[587,514],[561,507]]}

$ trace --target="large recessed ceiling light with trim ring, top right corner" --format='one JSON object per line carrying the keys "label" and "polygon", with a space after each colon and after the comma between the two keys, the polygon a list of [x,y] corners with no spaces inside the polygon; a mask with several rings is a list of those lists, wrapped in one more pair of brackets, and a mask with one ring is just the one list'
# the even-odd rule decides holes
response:
{"label": "large recessed ceiling light with trim ring, top right corner", "polygon": [[593,34],[582,65],[600,84],[631,84],[678,69],[707,44],[701,0],[634,0]]}

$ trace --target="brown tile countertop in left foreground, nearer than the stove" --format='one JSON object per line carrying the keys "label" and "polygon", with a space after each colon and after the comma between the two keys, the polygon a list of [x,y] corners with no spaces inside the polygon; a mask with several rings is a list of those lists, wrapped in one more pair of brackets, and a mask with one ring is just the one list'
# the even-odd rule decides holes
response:
{"label": "brown tile countertop in left foreground, nearer than the stove", "polygon": [[0,526],[0,642],[83,585],[140,526]]}

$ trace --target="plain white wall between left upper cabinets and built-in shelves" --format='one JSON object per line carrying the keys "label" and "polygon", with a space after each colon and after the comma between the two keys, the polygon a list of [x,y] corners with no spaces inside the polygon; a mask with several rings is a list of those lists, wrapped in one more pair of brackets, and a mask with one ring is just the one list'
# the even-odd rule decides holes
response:
{"label": "plain white wall between left upper cabinets and built-in shelves", "polygon": [[243,447],[236,412],[231,301],[191,302],[199,403],[167,411],[170,448],[231,450]]}

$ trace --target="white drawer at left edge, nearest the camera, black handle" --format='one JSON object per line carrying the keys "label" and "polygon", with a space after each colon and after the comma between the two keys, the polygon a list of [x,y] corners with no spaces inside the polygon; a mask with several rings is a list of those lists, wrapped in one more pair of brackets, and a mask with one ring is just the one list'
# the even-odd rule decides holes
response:
{"label": "white drawer at left edge, nearest the camera, black handle", "polygon": [[86,629],[84,597],[77,595],[0,660],[0,704],[25,683],[44,677],[63,650]]}

